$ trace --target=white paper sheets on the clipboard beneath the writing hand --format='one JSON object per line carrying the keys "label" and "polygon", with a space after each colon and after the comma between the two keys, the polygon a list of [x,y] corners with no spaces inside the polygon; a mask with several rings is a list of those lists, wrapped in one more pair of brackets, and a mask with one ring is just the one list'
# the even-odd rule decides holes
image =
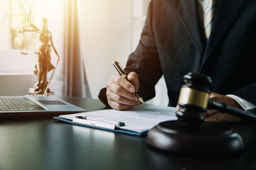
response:
{"label": "white paper sheets on the clipboard beneath the writing hand", "polygon": [[[117,111],[107,109],[101,111],[92,111],[84,113],[75,113],[70,115],[60,115],[58,118],[65,120],[73,120],[78,116],[88,117],[92,119],[102,118],[107,121],[123,122],[124,126],[118,127],[122,132],[132,131],[138,134],[145,133],[166,120],[176,120],[176,108],[155,106],[151,104],[143,104],[135,106],[129,111]],[[57,119],[58,119],[57,118]],[[116,131],[116,130],[114,130]]]}

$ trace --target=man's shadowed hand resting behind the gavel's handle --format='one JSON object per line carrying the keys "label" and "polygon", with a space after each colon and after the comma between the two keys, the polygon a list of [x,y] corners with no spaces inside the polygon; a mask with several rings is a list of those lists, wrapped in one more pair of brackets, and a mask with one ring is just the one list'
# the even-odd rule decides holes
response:
{"label": "man's shadowed hand resting behind the gavel's handle", "polygon": [[[235,101],[235,99],[230,98],[228,96],[224,96],[221,94],[211,93],[210,98],[219,102],[219,103],[226,103],[228,106],[233,108],[242,109],[242,107]],[[177,105],[176,110],[180,110],[181,108]],[[220,113],[219,111],[208,109],[205,113],[203,113],[205,120],[208,122],[240,122],[242,121],[241,118],[238,118],[234,115],[230,115],[228,113]]]}

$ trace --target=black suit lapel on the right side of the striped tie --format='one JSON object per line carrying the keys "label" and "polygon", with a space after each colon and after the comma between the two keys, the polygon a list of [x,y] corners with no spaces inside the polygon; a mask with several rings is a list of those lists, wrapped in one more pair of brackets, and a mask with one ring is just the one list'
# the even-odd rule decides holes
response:
{"label": "black suit lapel on the right side of the striped tie", "polygon": [[210,38],[208,41],[208,45],[206,46],[206,52],[203,56],[203,64],[208,60],[208,58],[213,55],[213,52],[217,45],[219,44],[220,40],[223,39],[223,36],[228,32],[230,29],[231,24],[235,20],[242,4],[245,0],[219,0],[215,21],[213,23],[212,32],[210,33]]}

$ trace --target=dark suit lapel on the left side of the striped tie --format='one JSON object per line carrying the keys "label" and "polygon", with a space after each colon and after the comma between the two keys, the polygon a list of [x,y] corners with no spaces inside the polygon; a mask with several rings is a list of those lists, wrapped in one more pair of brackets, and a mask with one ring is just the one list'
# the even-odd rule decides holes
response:
{"label": "dark suit lapel on the left side of the striped tie", "polygon": [[183,27],[188,33],[193,45],[200,52],[201,57],[204,53],[203,37],[201,35],[201,24],[199,22],[197,1],[193,0],[174,0],[173,4]]}

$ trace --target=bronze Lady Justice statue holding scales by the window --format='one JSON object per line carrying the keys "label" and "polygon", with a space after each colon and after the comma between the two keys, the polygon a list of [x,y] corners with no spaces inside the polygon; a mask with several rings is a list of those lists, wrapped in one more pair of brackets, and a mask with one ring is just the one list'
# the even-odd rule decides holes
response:
{"label": "bronze Lady Justice statue holding scales by the window", "polygon": [[[28,50],[26,45],[26,36],[25,36],[26,32],[36,33],[36,43],[38,43],[38,45],[35,44],[35,49],[34,49],[35,50],[34,53],[37,55],[34,74],[36,74],[38,78],[38,82],[33,85],[33,88],[28,89],[28,96],[53,96],[54,95],[53,92],[51,92],[48,87],[51,79],[53,78],[53,74],[58,65],[58,61],[60,60],[60,57],[53,45],[52,35],[48,30],[48,18],[42,18],[41,20],[42,28],[39,29],[31,22],[31,12],[32,11],[30,6],[29,12],[27,14],[28,23],[29,23],[28,28],[19,30],[19,33],[23,33],[23,43],[22,43],[21,54],[28,55]],[[39,37],[39,40],[38,40],[38,37]],[[55,67],[50,62],[51,47],[53,48],[53,51],[58,57]],[[53,73],[50,79],[48,80],[47,74],[52,69],[53,69]]]}

